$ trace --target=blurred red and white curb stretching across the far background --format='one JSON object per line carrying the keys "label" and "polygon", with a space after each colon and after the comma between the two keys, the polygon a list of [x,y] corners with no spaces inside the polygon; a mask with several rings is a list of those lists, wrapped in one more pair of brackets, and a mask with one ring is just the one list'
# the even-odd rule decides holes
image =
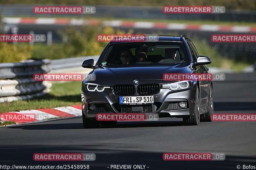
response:
{"label": "blurred red and white curb stretching across the far background", "polygon": [[179,24],[161,22],[135,22],[122,20],[101,21],[95,19],[69,19],[69,18],[19,18],[5,17],[3,21],[7,24],[35,24],[35,25],[105,25],[112,27],[146,28],[146,29],[167,29],[167,30],[198,30],[198,31],[223,31],[233,33],[255,33],[256,26],[225,26],[225,25],[199,25]]}

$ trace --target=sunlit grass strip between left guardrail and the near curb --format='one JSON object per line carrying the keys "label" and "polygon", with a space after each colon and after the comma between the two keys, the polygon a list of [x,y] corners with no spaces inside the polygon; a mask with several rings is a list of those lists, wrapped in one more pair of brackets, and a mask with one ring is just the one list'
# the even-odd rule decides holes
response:
{"label": "sunlit grass strip between left guardrail and the near curb", "polygon": [[0,103],[0,113],[81,104],[81,81],[56,83],[51,92],[30,100]]}

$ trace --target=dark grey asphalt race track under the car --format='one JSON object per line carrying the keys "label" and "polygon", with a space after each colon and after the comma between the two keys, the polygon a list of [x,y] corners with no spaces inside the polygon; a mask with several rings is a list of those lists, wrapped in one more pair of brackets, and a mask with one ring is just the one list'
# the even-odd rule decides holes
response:
{"label": "dark grey asphalt race track under the car", "polygon": [[[214,113],[256,113],[256,73],[226,74],[213,82]],[[146,165],[145,169],[237,169],[256,165],[256,122],[200,122],[177,118],[118,122],[83,129],[82,118],[0,128],[1,165]],[[164,161],[165,152],[225,153],[224,161]],[[95,161],[34,161],[34,153],[95,153]],[[109,167],[109,168],[108,168]],[[243,169],[241,167],[241,169]]]}

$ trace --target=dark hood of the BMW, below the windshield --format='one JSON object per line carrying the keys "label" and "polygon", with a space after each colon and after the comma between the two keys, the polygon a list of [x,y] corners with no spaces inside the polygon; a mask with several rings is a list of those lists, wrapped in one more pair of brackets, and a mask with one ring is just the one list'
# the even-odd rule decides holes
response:
{"label": "dark hood of the BMW, below the windshield", "polygon": [[[179,64],[174,66],[133,66],[133,67],[110,67],[99,66],[92,72],[95,76],[93,83],[104,83],[120,80],[163,80],[164,73],[191,73],[189,64]],[[122,83],[124,81],[120,81]],[[166,83],[166,81],[163,80]]]}

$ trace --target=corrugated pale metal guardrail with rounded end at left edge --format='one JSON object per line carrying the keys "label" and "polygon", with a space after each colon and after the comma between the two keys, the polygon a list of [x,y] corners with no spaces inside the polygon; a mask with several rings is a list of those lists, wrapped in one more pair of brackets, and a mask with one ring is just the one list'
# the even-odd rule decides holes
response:
{"label": "corrugated pale metal guardrail with rounded end at left edge", "polygon": [[27,100],[50,91],[52,84],[34,81],[35,73],[47,73],[49,59],[27,63],[0,63],[0,102]]}

